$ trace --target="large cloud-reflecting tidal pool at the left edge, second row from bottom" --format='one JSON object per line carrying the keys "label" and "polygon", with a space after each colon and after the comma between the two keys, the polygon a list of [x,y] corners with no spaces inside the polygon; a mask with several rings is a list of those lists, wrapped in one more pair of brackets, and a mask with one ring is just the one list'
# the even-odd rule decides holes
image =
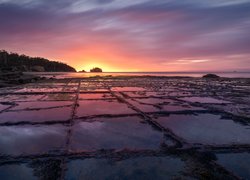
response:
{"label": "large cloud-reflecting tidal pool at the left edge, second row from bottom", "polygon": [[0,126],[0,155],[33,155],[62,151],[67,128],[63,125]]}

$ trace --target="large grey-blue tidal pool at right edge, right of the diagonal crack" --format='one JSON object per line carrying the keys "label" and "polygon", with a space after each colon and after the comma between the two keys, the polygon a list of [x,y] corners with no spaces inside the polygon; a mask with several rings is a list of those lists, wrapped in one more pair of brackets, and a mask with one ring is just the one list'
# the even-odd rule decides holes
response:
{"label": "large grey-blue tidal pool at right edge, right of the diagonal crack", "polygon": [[219,115],[170,115],[156,119],[178,136],[192,143],[249,144],[250,129]]}

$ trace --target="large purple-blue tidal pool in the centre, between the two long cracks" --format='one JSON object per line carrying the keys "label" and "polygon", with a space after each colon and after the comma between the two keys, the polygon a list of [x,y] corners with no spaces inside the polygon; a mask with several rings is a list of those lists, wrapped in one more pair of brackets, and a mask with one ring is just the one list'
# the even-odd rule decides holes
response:
{"label": "large purple-blue tidal pool in the centre, between the two long cracks", "polygon": [[158,149],[165,142],[163,133],[139,117],[98,118],[73,126],[72,151],[100,149]]}

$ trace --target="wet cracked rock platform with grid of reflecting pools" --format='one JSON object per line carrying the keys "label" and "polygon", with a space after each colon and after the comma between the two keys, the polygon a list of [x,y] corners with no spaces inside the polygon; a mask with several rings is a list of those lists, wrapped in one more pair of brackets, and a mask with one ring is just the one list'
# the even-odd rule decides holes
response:
{"label": "wet cracked rock platform with grid of reflecting pools", "polygon": [[0,89],[0,179],[250,179],[250,79]]}

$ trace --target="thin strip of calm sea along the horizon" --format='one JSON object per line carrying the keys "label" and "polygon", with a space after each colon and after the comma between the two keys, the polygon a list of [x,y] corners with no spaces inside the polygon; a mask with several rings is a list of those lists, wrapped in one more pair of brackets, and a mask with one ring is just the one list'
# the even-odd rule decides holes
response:
{"label": "thin strip of calm sea along the horizon", "polygon": [[[202,77],[208,72],[103,72],[103,73],[71,73],[71,72],[30,72],[44,77],[56,78],[82,78],[92,76],[189,76]],[[250,78],[250,72],[219,72],[215,73],[221,77]]]}

